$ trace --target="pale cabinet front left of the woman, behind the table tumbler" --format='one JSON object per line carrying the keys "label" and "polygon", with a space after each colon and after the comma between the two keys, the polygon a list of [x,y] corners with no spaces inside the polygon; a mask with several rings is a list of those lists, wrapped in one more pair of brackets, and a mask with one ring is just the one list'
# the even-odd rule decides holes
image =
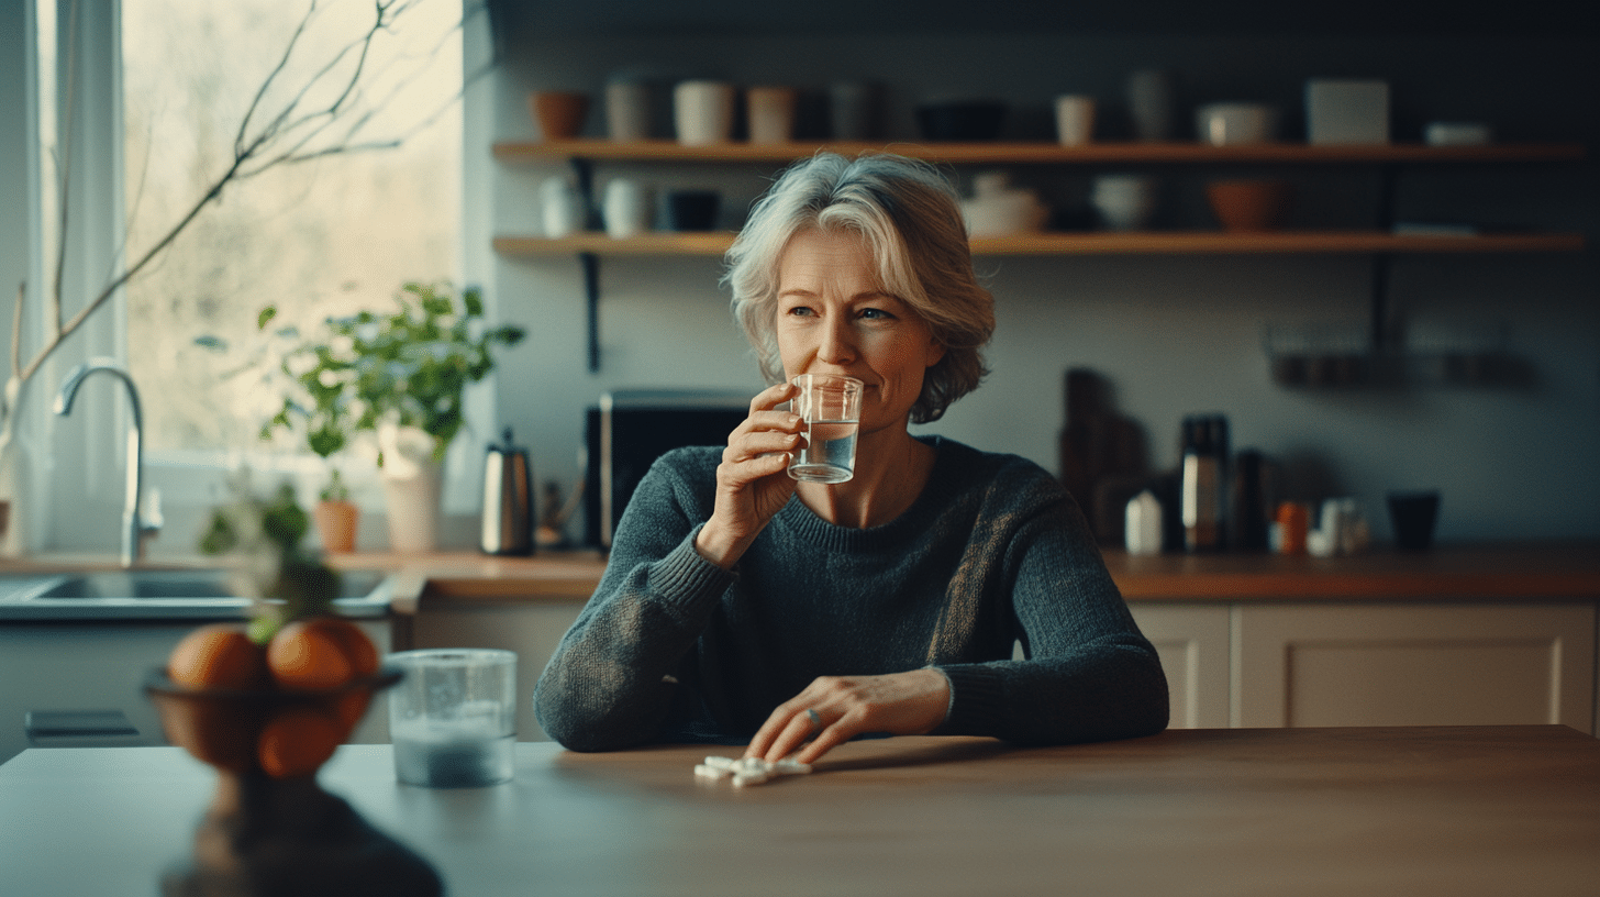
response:
{"label": "pale cabinet front left of the woman, behind the table tumbler", "polygon": [[562,636],[578,620],[584,602],[526,604],[429,602],[413,623],[413,647],[493,647],[517,654],[517,740],[549,742],[533,718],[533,686],[555,654]]}

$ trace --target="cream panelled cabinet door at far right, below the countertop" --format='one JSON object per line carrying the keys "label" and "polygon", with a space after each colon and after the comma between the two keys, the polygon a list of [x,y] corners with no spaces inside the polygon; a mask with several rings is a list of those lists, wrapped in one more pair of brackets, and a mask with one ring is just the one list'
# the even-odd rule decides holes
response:
{"label": "cream panelled cabinet door at far right, below the countertop", "polygon": [[1242,605],[1235,726],[1594,732],[1594,604]]}

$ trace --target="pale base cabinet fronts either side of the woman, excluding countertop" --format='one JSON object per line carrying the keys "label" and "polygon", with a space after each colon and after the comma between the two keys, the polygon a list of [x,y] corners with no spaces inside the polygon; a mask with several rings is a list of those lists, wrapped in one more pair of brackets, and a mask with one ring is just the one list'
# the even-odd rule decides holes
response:
{"label": "pale base cabinet fronts either side of the woman, excluding countertop", "polygon": [[[582,596],[424,604],[414,647],[517,654],[517,737],[547,740],[533,686]],[[1166,671],[1173,729],[1595,729],[1595,604],[1130,601]]]}

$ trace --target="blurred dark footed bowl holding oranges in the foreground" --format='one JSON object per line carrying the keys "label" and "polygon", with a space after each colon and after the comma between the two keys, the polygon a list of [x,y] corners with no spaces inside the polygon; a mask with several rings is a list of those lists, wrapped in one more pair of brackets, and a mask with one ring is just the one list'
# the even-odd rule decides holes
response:
{"label": "blurred dark footed bowl holding oranges in the foreground", "polygon": [[362,630],[336,615],[294,620],[266,644],[245,625],[213,623],[184,636],[146,694],[171,743],[238,775],[314,775],[400,681],[379,666]]}

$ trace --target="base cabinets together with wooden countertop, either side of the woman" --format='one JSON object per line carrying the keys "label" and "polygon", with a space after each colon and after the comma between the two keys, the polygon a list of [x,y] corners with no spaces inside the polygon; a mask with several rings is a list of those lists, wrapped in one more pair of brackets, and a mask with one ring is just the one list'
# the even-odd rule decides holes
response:
{"label": "base cabinets together with wooden countertop, either side of the woman", "polygon": [[[1558,722],[1600,735],[1592,541],[1102,554],[1160,654],[1174,729]],[[397,630],[416,647],[515,650],[528,713],[603,569],[597,553],[440,557],[413,570]],[[542,734],[525,718],[518,737]]]}

